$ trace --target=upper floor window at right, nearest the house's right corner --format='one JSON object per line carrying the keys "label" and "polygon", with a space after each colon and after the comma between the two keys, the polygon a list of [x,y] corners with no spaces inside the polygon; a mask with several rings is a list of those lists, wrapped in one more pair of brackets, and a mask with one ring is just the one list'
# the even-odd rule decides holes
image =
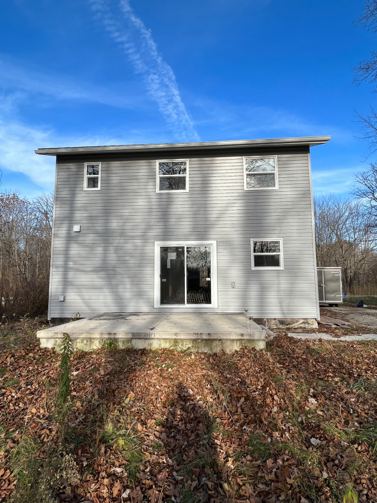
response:
{"label": "upper floor window at right, nearest the house's right corner", "polygon": [[245,191],[259,188],[277,188],[277,159],[271,157],[245,157]]}

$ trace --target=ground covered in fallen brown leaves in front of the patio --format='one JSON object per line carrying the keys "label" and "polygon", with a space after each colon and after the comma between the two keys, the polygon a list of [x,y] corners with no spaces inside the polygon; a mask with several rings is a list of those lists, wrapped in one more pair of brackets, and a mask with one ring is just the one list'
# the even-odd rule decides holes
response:
{"label": "ground covered in fallen brown leaves in front of the patio", "polygon": [[[60,357],[36,324],[0,329],[0,501],[58,443]],[[284,334],[232,355],[75,353],[65,445],[80,480],[56,501],[342,502],[351,483],[377,501],[376,356]]]}

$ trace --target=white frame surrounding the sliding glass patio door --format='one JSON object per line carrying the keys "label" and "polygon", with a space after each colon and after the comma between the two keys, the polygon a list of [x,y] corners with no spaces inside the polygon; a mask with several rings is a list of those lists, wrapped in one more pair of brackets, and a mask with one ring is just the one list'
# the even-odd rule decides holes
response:
{"label": "white frame surrounding the sliding glass patio door", "polygon": [[[211,304],[161,304],[160,248],[164,246],[211,246]],[[187,290],[186,253],[184,254],[184,288]],[[200,311],[218,307],[217,294],[217,241],[154,241],[154,307],[169,311]]]}

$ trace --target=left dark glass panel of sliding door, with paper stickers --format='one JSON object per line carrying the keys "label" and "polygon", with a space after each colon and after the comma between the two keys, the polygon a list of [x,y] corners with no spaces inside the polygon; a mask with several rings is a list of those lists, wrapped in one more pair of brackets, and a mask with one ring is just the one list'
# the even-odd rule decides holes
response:
{"label": "left dark glass panel of sliding door, with paper stickers", "polygon": [[160,248],[161,304],[184,304],[184,246]]}

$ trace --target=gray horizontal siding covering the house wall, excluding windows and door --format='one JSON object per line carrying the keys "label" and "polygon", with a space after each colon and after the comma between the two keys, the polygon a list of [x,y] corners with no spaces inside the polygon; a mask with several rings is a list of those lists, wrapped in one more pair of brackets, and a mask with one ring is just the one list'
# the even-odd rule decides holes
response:
{"label": "gray horizontal siding covering the house wall, excluding windows and door", "polygon": [[[278,156],[278,190],[244,191],[243,155]],[[173,159],[159,154],[158,159]],[[187,155],[177,155],[185,159]],[[83,191],[84,162],[102,162]],[[188,193],[156,194],[156,158],[58,158],[50,316],[153,310],[154,242],[216,240],[217,311],[316,318],[305,148],[189,156]],[[81,225],[80,233],[72,226]],[[284,270],[252,270],[250,238],[281,238]],[[236,288],[231,288],[234,281]],[[66,301],[59,302],[58,296]],[[167,310],[168,306],[164,307]]]}

